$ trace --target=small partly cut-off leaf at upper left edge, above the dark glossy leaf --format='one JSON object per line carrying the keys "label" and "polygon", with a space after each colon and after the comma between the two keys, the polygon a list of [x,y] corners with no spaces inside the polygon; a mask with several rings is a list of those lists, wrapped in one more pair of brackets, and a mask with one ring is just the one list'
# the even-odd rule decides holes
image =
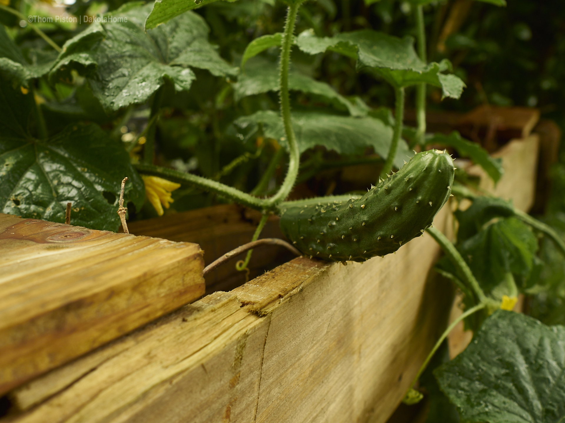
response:
{"label": "small partly cut-off leaf at upper left edge, above the dark glossy leaf", "polygon": [[[41,57],[41,59],[44,59]],[[28,63],[18,46],[6,33],[4,25],[0,24],[0,74],[11,80],[15,85],[28,86],[31,78],[45,75],[53,66],[54,60],[39,60]]]}

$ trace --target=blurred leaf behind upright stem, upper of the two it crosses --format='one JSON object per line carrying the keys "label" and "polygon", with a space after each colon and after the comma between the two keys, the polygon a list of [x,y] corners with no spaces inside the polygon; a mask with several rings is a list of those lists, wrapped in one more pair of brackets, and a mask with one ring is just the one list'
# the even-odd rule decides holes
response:
{"label": "blurred leaf behind upright stem, upper of the two it crosses", "polygon": [[[288,78],[290,90],[302,91],[308,94],[320,95],[329,100],[335,100],[344,106],[351,116],[366,116],[367,110],[351,103],[344,96],[325,82],[314,80],[309,76],[291,71]],[[275,63],[262,58],[251,61],[238,81],[233,84],[236,101],[247,95],[261,94],[267,91],[279,91],[279,69]]]}

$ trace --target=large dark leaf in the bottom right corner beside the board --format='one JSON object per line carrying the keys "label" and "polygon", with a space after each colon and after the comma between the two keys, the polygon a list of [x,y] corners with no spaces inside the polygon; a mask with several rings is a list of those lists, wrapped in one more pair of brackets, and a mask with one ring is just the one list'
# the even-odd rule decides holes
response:
{"label": "large dark leaf in the bottom right corner beside the board", "polygon": [[565,421],[565,327],[498,310],[434,372],[462,421]]}

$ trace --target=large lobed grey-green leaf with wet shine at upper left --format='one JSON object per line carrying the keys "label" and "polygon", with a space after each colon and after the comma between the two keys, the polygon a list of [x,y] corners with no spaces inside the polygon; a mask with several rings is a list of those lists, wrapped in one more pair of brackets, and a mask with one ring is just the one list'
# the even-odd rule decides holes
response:
{"label": "large lobed grey-green leaf with wet shine at upper left", "polygon": [[151,7],[125,8],[112,19],[127,21],[94,23],[67,41],[51,76],[64,79],[69,69],[78,69],[89,78],[103,107],[117,110],[145,102],[165,80],[176,90],[190,89],[195,78],[190,67],[216,76],[237,73],[208,43],[208,25],[194,12],[144,32]]}

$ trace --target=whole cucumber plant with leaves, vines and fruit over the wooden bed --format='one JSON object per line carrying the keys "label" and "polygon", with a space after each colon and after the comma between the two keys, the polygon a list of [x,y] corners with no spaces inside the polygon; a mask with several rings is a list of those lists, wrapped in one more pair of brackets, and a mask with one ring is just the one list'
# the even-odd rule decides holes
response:
{"label": "whole cucumber plant with leaves, vines and fruit over the wooden bed", "polygon": [[[0,120],[2,211],[62,222],[64,205],[71,201],[73,223],[117,230],[115,209],[121,179],[128,176],[125,199],[139,209],[145,191],[140,175],[154,175],[262,211],[253,240],[259,237],[268,214],[279,214],[286,236],[312,258],[363,262],[375,255],[393,253],[428,232],[445,251],[446,258],[438,263],[437,270],[464,293],[466,310],[440,337],[415,381],[450,329],[464,320],[476,332],[475,341],[459,359],[436,371],[439,386],[459,407],[460,415],[468,421],[563,421],[562,327],[548,329],[523,316],[498,310],[510,309],[512,298],[519,292],[540,289],[534,278],[540,265],[534,259],[535,233],[544,233],[565,252],[563,241],[551,228],[511,205],[476,197],[466,188],[454,186],[455,169],[447,152],[432,149],[413,155],[410,151],[415,146],[454,148],[459,156],[470,157],[483,166],[495,182],[502,175],[499,161],[458,133],[426,133],[427,85],[438,87],[443,97],[455,99],[464,89],[463,81],[451,73],[448,60],[427,62],[423,6],[431,1],[409,2],[416,23],[416,52],[411,37],[398,38],[371,29],[324,37],[316,20],[308,20],[302,0],[287,0],[283,31],[253,39],[243,50],[240,69],[208,41],[208,24],[217,27],[216,12],[206,9],[202,14],[205,19],[192,11],[214,1],[129,2],[111,12],[119,20],[94,23],[72,36],[63,36],[60,28],[51,30],[54,39],[44,32],[47,28],[30,23],[28,27],[44,40],[46,49],[22,42],[30,37],[29,32],[14,42],[17,20],[8,32],[0,26],[0,111],[5,117]],[[503,0],[485,1],[505,4]],[[2,22],[9,20],[7,15],[25,17],[24,8],[16,10],[11,7],[14,5],[0,5]],[[324,7],[332,14],[331,5]],[[311,29],[295,36],[298,16],[308,21]],[[229,37],[224,34],[224,38]],[[341,55],[354,61],[364,77],[384,80],[394,92],[394,117],[371,109],[359,98],[346,98],[328,83],[293,68],[293,47],[304,56],[316,57],[327,51]],[[280,51],[278,64],[265,60],[264,55],[273,49]],[[416,87],[415,130],[403,125],[406,91],[411,86]],[[207,166],[201,157],[205,176],[156,165],[157,128],[164,116],[173,113],[167,107],[170,97],[205,90],[215,90],[213,98],[181,97],[210,112],[212,136],[206,147],[211,160]],[[278,113],[270,106],[248,107],[251,101],[246,100],[270,92],[278,93]],[[290,92],[322,98],[324,104],[335,109],[301,108],[299,102],[293,102]],[[219,110],[231,93],[234,102],[245,103],[245,113],[225,113],[229,122],[224,125]],[[197,114],[189,118],[202,124],[206,119]],[[129,122],[140,118],[145,122],[144,129],[133,136],[128,132]],[[129,141],[120,135],[124,128],[124,135],[131,135]],[[182,141],[187,145],[193,142],[191,136],[201,136],[197,124],[191,128],[193,132]],[[159,126],[159,130],[165,127]],[[223,177],[262,157],[269,148],[259,143],[263,137],[255,137],[258,131],[264,138],[276,140],[276,147],[280,147],[272,154],[259,182],[250,190],[224,183],[227,180]],[[228,136],[240,140],[235,150],[241,154],[222,168],[217,159]],[[257,148],[242,152],[249,140],[255,140]],[[285,201],[297,180],[320,168],[315,154],[300,163],[301,153],[316,146],[361,156],[337,161],[338,166],[379,162],[382,168],[378,182],[363,195]],[[379,157],[363,157],[368,148]],[[268,188],[286,156],[288,165],[282,183]],[[310,165],[310,173],[299,176],[301,166]],[[329,162],[324,165],[332,166]],[[456,245],[431,227],[434,215],[452,191],[473,201],[469,210],[457,213],[460,229]],[[271,195],[263,196],[267,192]],[[512,238],[516,234],[519,236]],[[467,260],[486,248],[499,253],[492,263],[488,259],[479,261],[484,265],[481,267],[477,261]],[[248,253],[237,267],[244,270],[250,257]],[[512,337],[512,331],[522,331],[525,340]],[[544,354],[532,355],[532,345],[541,343],[549,346],[542,351]],[[511,355],[505,355],[509,351]],[[542,369],[542,377],[525,380],[524,363]],[[507,371],[510,367],[512,371]],[[488,369],[494,376],[484,377],[474,371],[476,368]],[[503,384],[498,383],[501,380]],[[520,397],[514,385],[528,393],[538,390],[546,398],[536,402],[539,398],[534,395]],[[422,396],[412,386],[405,398],[407,403],[417,402]]]}

